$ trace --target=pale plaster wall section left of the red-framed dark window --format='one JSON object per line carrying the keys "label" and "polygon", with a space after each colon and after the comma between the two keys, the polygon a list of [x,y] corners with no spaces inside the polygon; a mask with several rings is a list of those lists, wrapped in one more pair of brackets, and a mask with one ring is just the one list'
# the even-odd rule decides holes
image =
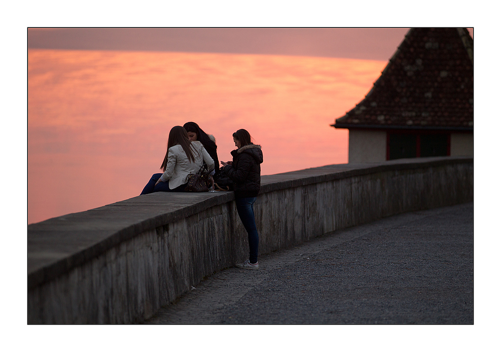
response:
{"label": "pale plaster wall section left of the red-framed dark window", "polygon": [[348,162],[386,160],[386,131],[350,129]]}

